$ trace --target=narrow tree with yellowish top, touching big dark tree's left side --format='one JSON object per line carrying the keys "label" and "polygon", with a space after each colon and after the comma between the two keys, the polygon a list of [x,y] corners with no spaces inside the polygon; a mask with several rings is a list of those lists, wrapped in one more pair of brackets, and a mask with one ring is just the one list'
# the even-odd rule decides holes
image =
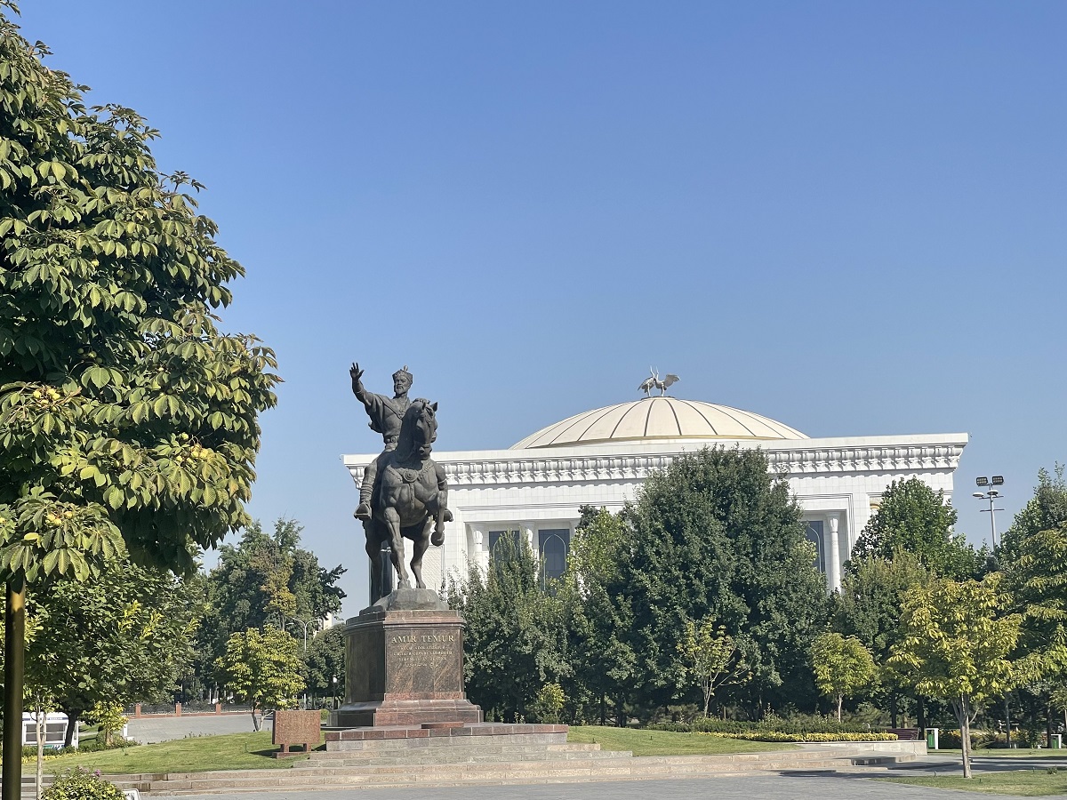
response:
{"label": "narrow tree with yellowish top, touching big dark tree's left side", "polygon": [[602,725],[607,721],[608,699],[616,723],[626,724],[625,706],[637,666],[630,644],[633,612],[620,594],[621,566],[630,558],[632,539],[621,515],[583,507],[557,595],[563,604],[572,667],[567,694],[575,704],[594,703]]}

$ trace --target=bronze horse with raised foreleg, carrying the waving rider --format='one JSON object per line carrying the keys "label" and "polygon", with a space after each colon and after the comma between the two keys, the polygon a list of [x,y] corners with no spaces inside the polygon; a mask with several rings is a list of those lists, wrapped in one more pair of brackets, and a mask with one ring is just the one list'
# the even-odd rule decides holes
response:
{"label": "bronze horse with raised foreleg, carrying the waving rider", "polygon": [[391,560],[397,571],[397,587],[410,587],[404,566],[403,540],[412,541],[411,571],[415,586],[423,581],[423,554],[445,539],[446,522],[451,522],[445,470],[430,459],[437,437],[437,404],[414,400],[400,422],[395,450],[382,454],[371,494],[371,517],[363,524],[370,556],[370,595],[376,603],[387,592],[382,586],[382,542],[388,540]]}

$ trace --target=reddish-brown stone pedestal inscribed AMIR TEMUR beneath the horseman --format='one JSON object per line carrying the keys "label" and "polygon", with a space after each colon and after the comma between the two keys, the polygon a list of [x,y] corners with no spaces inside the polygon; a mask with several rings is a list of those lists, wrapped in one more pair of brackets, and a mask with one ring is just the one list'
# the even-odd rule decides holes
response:
{"label": "reddish-brown stone pedestal inscribed AMIR TEMUR beneath the horseman", "polygon": [[334,727],[481,722],[463,692],[463,620],[429,589],[398,589],[345,626]]}

